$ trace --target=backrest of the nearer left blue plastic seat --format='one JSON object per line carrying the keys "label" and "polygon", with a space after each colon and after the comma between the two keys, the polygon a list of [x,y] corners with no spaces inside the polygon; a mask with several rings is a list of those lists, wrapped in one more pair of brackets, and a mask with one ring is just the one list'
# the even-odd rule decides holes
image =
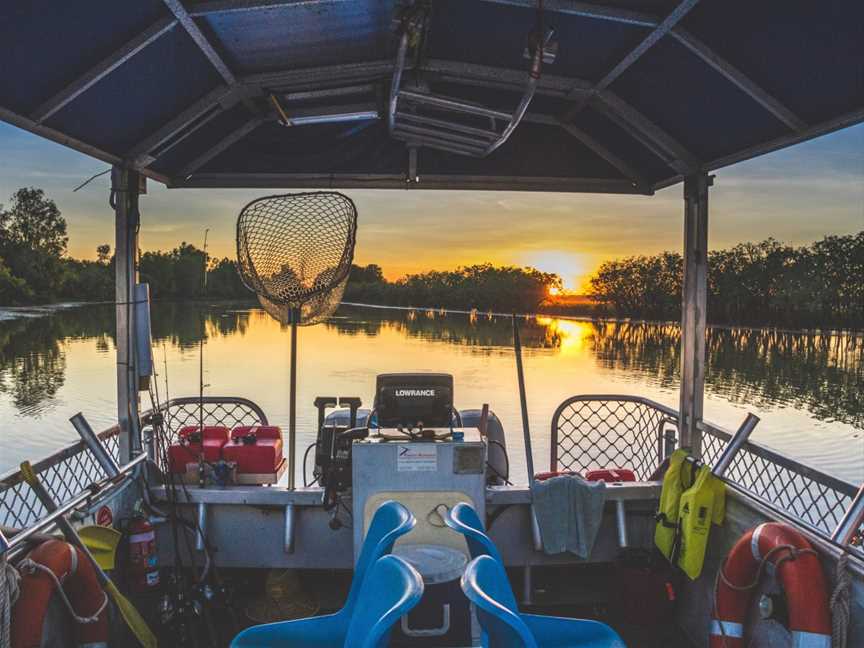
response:
{"label": "backrest of the nearer left blue plastic seat", "polygon": [[423,596],[423,579],[398,556],[383,556],[369,568],[351,615],[345,648],[386,648],[393,624]]}

